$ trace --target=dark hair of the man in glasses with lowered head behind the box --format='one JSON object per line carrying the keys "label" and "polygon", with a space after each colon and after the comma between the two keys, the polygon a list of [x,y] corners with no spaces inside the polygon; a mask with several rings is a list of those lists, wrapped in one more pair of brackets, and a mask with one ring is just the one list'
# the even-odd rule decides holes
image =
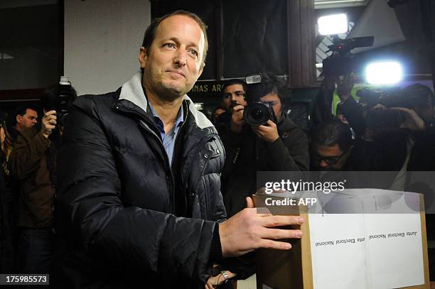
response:
{"label": "dark hair of the man in glasses with lowered head behind the box", "polygon": [[319,124],[311,133],[311,144],[314,149],[318,146],[331,147],[338,144],[340,151],[346,151],[352,145],[352,133],[349,126],[340,119],[330,119]]}

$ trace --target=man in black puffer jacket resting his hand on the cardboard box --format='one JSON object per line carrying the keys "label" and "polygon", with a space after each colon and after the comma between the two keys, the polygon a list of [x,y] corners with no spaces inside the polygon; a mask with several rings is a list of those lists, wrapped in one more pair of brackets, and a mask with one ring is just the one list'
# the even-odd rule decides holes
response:
{"label": "man in black puffer jacket resting his hand on the cardboard box", "polygon": [[73,104],[58,153],[63,287],[203,288],[213,261],[290,249],[272,239],[300,238],[297,229],[272,229],[300,217],[257,214],[250,199],[223,221],[224,149],[186,96],[207,45],[195,14],[157,18],[140,48],[142,72]]}

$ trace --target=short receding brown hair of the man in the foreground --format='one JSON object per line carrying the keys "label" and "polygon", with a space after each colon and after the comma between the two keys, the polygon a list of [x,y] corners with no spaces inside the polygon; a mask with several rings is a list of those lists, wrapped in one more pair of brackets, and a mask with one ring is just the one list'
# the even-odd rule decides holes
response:
{"label": "short receding brown hair of the man in the foreground", "polygon": [[[159,18],[154,18],[153,21],[151,21],[151,24],[148,26],[148,28],[146,28],[146,31],[145,31],[145,34],[144,34],[144,40],[142,41],[142,46],[144,48],[146,48],[146,55],[148,55],[149,48],[153,44],[154,38],[156,38],[157,28],[159,28],[160,23],[163,20],[165,20],[166,18],[169,18],[171,16],[176,16],[176,15],[183,15],[183,16],[188,16],[188,17],[192,18],[193,20],[196,21],[196,23],[198,23],[198,25],[200,26],[201,30],[203,31],[203,33],[204,33],[204,40],[205,40],[205,42],[204,42],[204,50],[203,50],[203,66],[204,66],[205,65],[205,57],[207,56],[207,51],[208,51],[207,26],[201,20],[201,18],[199,18],[198,15],[196,15],[195,13],[188,12],[188,11],[183,11],[183,10],[177,10],[175,12],[166,14],[165,16],[161,16]],[[142,72],[144,72],[143,69],[142,69]]]}

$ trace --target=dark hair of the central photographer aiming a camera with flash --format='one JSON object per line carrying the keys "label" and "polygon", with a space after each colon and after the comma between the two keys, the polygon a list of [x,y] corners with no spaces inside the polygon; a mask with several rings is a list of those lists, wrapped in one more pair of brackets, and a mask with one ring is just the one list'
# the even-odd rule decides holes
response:
{"label": "dark hair of the central photographer aiming a camera with flash", "polygon": [[284,99],[290,97],[291,89],[289,85],[281,77],[278,77],[273,72],[261,72],[262,82],[252,84],[251,88],[248,85],[247,102],[259,102],[261,97],[269,93],[276,93],[284,105]]}

